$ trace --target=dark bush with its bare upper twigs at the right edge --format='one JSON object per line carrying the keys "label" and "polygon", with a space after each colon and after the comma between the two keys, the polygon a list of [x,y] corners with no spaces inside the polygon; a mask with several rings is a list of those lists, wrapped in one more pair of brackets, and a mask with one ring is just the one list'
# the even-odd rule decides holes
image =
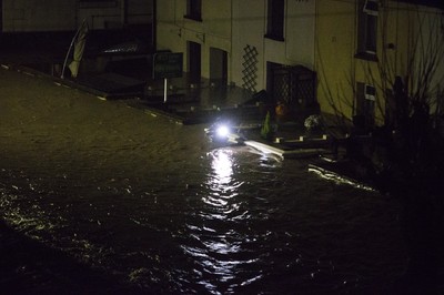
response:
{"label": "dark bush with its bare upper twigs at the right edge", "polygon": [[[343,108],[355,106],[334,99],[336,91],[324,87],[336,124],[351,134],[347,161],[365,167],[365,177],[403,206],[410,263],[396,294],[440,294],[444,292],[444,92],[440,89],[444,27],[442,16],[431,21],[417,18],[423,27],[413,38],[413,54],[405,61],[403,77],[395,73],[398,64],[386,50],[380,53],[376,71],[363,65],[366,80],[382,94],[375,102],[384,116],[382,124],[364,115],[355,115],[349,124]],[[379,41],[384,43],[382,34]],[[352,74],[347,83],[356,94]]]}

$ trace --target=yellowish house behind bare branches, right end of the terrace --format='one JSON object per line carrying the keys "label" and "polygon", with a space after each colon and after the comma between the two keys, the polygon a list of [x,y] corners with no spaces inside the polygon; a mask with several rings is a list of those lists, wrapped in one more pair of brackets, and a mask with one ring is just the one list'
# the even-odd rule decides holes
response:
{"label": "yellowish house behind bare branches, right end of the terrace", "polygon": [[[423,2],[423,4],[418,4]],[[435,104],[444,74],[443,4],[319,0],[317,100],[326,113],[392,124],[395,81]],[[426,87],[426,88],[425,88]]]}

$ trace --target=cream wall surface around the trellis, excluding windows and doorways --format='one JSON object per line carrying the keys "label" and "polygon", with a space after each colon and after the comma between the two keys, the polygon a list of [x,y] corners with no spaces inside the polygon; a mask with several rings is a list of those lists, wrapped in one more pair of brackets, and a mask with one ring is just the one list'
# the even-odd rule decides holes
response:
{"label": "cream wall surface around the trellis, excluding windows and doorways", "polygon": [[256,91],[266,87],[268,61],[314,68],[314,0],[286,1],[284,42],[264,38],[265,0],[203,0],[202,22],[184,18],[185,11],[185,1],[159,2],[158,49],[184,52],[186,60],[186,41],[200,43],[203,78],[210,75],[210,48],[228,52],[228,80],[239,87],[244,83],[245,50],[253,49]]}

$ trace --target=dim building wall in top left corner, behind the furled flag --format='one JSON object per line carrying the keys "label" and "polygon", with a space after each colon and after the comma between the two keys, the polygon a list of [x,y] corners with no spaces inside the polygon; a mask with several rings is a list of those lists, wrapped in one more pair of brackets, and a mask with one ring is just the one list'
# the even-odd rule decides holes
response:
{"label": "dim building wall in top left corner, behind the furled flag", "polygon": [[[79,0],[3,0],[3,32],[68,31],[88,20],[90,29],[152,22],[153,0],[82,2]],[[128,16],[124,19],[123,4]]]}

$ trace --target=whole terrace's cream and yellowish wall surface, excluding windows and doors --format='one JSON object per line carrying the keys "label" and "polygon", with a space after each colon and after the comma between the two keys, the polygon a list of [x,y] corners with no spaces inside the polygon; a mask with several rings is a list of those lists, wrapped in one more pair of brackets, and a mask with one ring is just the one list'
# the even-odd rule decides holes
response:
{"label": "whole terrace's cream and yellowish wall surface, excluding windows and doors", "polygon": [[[440,13],[430,13],[424,7],[383,1],[379,11],[376,59],[366,60],[356,57],[356,1],[285,1],[284,41],[264,38],[266,0],[202,2],[202,22],[183,18],[185,1],[164,0],[159,3],[159,49],[186,53],[186,41],[200,43],[203,78],[210,75],[210,49],[222,49],[228,52],[229,82],[240,87],[244,84],[244,63],[250,50],[255,59],[256,91],[266,89],[268,62],[305,65],[317,73],[316,94],[321,110],[326,113],[337,111],[349,119],[356,111],[356,83],[373,85],[376,88],[377,124],[384,122],[386,92],[392,89],[395,77],[412,77],[410,61],[418,54],[414,49],[418,28],[428,31],[432,26],[432,22],[420,19],[441,17]],[[442,62],[437,71],[432,81],[435,89],[443,81]],[[444,85],[440,84],[440,88]]]}

